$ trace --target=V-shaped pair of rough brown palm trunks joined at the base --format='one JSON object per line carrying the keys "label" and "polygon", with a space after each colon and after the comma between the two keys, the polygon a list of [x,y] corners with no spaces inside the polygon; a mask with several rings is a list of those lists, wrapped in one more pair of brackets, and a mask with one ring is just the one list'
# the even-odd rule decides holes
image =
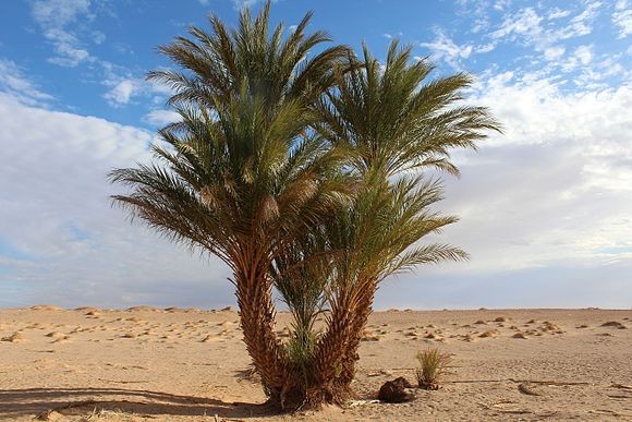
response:
{"label": "V-shaped pair of rough brown palm trunks joined at the base", "polygon": [[342,403],[353,393],[357,349],[372,311],[376,284],[365,280],[339,292],[327,331],[307,369],[294,367],[275,333],[275,305],[267,264],[256,253],[240,256],[234,274],[244,342],[269,401],[281,409]]}

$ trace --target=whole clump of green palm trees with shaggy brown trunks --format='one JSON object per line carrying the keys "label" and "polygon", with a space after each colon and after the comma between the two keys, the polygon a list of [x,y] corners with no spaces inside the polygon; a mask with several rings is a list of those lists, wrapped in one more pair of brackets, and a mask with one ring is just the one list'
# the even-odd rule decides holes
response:
{"label": "whole clump of green palm trees with shaggy brown trunks", "polygon": [[[284,37],[269,31],[268,2],[236,28],[210,16],[160,51],[181,71],[148,77],[174,91],[181,121],[159,131],[151,165],[118,169],[114,196],[133,217],[177,242],[219,256],[232,270],[247,351],[281,408],[351,395],[357,348],[385,278],[415,265],[462,260],[445,244],[420,245],[455,217],[430,207],[441,186],[427,168],[458,169],[449,152],[498,130],[484,108],[455,106],[465,74],[425,82],[391,45],[384,69],[364,48],[312,51],[308,13]],[[294,322],[274,330],[276,288]],[[326,327],[318,331],[316,318]]]}

